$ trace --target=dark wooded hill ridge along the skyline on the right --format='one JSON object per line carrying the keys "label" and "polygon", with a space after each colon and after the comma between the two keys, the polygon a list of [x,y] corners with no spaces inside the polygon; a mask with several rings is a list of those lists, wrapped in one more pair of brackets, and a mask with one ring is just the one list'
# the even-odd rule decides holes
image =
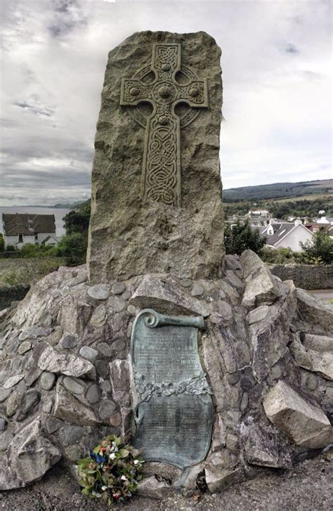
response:
{"label": "dark wooded hill ridge along the skyline on the right", "polygon": [[299,183],[272,183],[258,186],[240,186],[223,190],[223,202],[257,202],[259,200],[296,198],[333,192],[333,179],[301,181]]}

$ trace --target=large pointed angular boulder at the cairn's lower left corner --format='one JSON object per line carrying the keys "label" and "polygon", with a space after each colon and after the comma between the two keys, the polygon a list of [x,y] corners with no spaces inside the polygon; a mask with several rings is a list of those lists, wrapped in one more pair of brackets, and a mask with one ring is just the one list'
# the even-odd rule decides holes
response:
{"label": "large pointed angular boulder at the cairn's lower left corner", "polygon": [[58,448],[43,436],[38,417],[15,435],[10,449],[11,470],[20,479],[18,486],[40,479],[61,458]]}

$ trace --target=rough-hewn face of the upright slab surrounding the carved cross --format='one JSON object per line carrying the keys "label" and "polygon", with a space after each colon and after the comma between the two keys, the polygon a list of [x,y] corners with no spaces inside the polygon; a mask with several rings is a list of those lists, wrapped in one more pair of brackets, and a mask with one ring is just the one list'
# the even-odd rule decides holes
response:
{"label": "rough-hewn face of the upright slab surrounding the carved cross", "polygon": [[[181,43],[181,63],[200,79],[207,78],[208,84],[209,108],[181,129],[180,208],[141,199],[145,128],[133,120],[129,108],[119,107],[122,79],[131,79],[150,65],[157,41]],[[220,56],[214,39],[204,32],[137,32],[110,51],[93,163],[91,283],[166,271],[181,278],[221,274]],[[117,176],[112,169],[117,169]]]}

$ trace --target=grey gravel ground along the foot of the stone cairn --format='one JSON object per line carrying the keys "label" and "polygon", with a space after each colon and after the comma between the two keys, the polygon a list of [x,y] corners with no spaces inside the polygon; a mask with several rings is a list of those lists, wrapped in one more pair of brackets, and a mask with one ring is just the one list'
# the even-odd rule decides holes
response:
{"label": "grey gravel ground along the foot of the stone cairn", "polygon": [[[223,493],[204,493],[196,500],[171,493],[163,501],[136,497],[119,511],[326,511],[333,509],[333,452],[306,460],[289,472],[267,471],[263,477],[231,486]],[[53,467],[32,486],[0,493],[5,511],[106,511],[95,500],[86,500],[75,481]]]}

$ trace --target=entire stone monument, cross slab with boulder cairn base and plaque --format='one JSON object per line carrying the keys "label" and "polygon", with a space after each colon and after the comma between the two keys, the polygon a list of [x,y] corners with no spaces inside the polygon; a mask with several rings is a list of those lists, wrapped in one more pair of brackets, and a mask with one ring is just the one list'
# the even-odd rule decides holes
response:
{"label": "entire stone monument, cross slab with boulder cairn base and plaque", "polygon": [[333,305],[251,250],[224,256],[220,55],[204,32],[110,52],[89,271],[60,267],[0,312],[0,491],[60,458],[75,474],[108,434],[143,449],[157,497],[332,444]]}

